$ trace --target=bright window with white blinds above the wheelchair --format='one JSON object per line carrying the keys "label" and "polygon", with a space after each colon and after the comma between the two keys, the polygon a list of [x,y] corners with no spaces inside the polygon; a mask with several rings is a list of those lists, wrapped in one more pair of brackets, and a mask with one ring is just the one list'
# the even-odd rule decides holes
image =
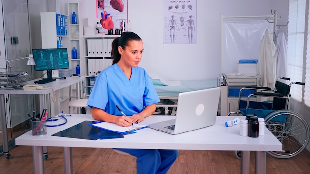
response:
{"label": "bright window with white blinds above the wheelchair", "polygon": [[[304,67],[304,42],[307,32],[305,32],[305,13],[306,0],[290,0],[289,1],[289,15],[288,15],[288,36],[287,36],[287,56],[288,56],[288,77],[292,81],[303,82]],[[307,11],[308,13],[308,11]],[[308,18],[308,17],[307,17]],[[309,54],[308,54],[309,55]],[[310,65],[308,64],[310,67]],[[308,68],[308,71],[310,68]],[[304,73],[305,74],[305,73]],[[310,81],[310,72],[308,72],[308,81]],[[310,82],[306,82],[306,88],[310,88]],[[310,92],[310,90],[309,90]],[[302,101],[302,86],[292,85],[290,91],[292,98]],[[310,101],[310,93],[308,93]],[[310,106],[310,102],[309,105]]]}

